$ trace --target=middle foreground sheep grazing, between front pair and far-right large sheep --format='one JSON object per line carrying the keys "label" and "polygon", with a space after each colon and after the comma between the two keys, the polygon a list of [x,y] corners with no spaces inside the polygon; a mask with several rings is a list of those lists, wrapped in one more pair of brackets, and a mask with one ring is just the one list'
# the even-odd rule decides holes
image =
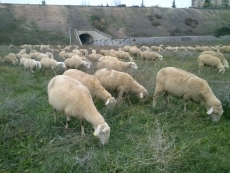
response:
{"label": "middle foreground sheep grazing, between front pair and far-right large sheep", "polygon": [[148,91],[140,85],[128,73],[120,72],[108,68],[97,70],[94,76],[98,78],[102,86],[108,91],[117,91],[118,100],[122,99],[124,93],[137,94],[139,98],[146,98]]}

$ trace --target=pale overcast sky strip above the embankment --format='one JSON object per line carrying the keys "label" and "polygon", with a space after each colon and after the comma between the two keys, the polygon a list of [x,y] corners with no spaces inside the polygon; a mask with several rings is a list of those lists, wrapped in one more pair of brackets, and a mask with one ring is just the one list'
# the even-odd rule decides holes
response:
{"label": "pale overcast sky strip above the embankment", "polygon": [[[1,3],[10,4],[41,4],[43,0],[0,0]],[[160,7],[171,7],[173,0],[143,0],[147,7],[158,5]],[[126,6],[141,5],[142,0],[45,0],[47,5],[103,5],[114,6],[126,4]],[[177,8],[188,8],[191,0],[175,0]]]}

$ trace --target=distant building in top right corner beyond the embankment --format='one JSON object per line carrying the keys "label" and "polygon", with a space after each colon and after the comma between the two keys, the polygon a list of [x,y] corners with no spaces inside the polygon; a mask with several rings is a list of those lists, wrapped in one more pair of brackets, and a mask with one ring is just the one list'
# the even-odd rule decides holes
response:
{"label": "distant building in top right corner beyond the embankment", "polygon": [[[230,6],[230,0],[210,0],[213,7],[216,6]],[[192,7],[203,7],[205,0],[192,0]]]}

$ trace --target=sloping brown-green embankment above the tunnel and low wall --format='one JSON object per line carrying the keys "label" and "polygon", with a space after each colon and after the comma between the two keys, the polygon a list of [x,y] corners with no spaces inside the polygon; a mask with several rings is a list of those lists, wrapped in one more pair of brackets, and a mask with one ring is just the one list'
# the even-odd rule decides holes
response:
{"label": "sloping brown-green embankment above the tunnel and low wall", "polygon": [[69,28],[114,38],[215,35],[229,28],[229,16],[229,9],[1,4],[0,44],[67,43]]}

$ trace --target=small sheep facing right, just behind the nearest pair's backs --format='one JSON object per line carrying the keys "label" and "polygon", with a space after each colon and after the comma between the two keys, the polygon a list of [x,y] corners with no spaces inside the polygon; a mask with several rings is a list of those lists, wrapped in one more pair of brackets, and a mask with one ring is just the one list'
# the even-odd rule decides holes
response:
{"label": "small sheep facing right, just behind the nearest pair's backs", "polygon": [[92,64],[91,62],[84,61],[78,58],[68,58],[64,61],[64,63],[66,66],[66,70],[70,68],[79,69],[82,66],[85,66],[89,69]]}

